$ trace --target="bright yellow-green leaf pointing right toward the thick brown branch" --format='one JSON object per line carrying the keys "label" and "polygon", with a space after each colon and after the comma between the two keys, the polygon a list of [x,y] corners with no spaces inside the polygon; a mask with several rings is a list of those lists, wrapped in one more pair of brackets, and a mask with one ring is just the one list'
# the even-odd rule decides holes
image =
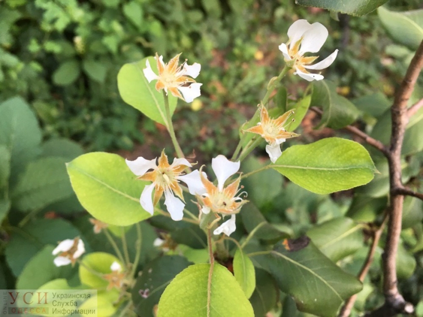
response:
{"label": "bright yellow-green leaf pointing right toward the thick brown branch", "polygon": [[287,148],[272,168],[317,194],[330,194],[368,183],[374,164],[357,142],[327,138]]}

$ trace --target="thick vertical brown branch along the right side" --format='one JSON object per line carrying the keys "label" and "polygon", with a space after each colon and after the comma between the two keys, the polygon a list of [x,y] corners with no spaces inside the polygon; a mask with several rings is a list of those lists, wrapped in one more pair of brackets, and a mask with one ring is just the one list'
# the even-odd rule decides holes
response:
{"label": "thick vertical brown branch along the right side", "polygon": [[383,258],[383,291],[385,294],[385,304],[367,316],[391,317],[397,314],[411,314],[414,311],[412,304],[407,303],[397,288],[396,278],[396,256],[401,233],[402,207],[404,194],[398,193],[399,188],[403,188],[401,182],[401,148],[404,141],[405,128],[408,124],[407,103],[416,85],[417,78],[423,68],[423,41],[420,43],[407,73],[395,94],[392,115],[391,146],[388,155],[389,175],[390,175],[390,215],[388,222],[388,235],[385,244]]}

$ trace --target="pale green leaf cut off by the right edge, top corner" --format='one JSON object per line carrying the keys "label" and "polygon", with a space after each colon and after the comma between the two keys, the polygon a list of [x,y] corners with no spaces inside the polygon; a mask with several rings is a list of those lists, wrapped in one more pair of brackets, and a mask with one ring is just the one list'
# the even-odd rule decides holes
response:
{"label": "pale green leaf cut off by the right edge, top corner", "polygon": [[394,12],[380,7],[379,19],[389,35],[412,50],[416,50],[423,40],[423,10]]}

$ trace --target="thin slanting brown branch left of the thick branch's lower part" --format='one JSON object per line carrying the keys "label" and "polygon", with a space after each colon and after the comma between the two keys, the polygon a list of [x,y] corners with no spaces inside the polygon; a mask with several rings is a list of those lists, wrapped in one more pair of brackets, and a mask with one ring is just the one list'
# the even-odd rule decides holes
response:
{"label": "thin slanting brown branch left of the thick branch's lower part", "polygon": [[[370,266],[373,262],[374,259],[374,254],[376,252],[377,246],[379,244],[379,240],[380,237],[382,236],[382,232],[385,229],[385,225],[386,225],[386,221],[388,220],[388,212],[385,212],[385,217],[383,219],[382,224],[380,225],[380,227],[373,231],[373,241],[372,244],[370,246],[370,249],[367,253],[367,257],[363,263],[363,266],[360,270],[359,275],[357,276],[357,278],[363,282],[364,278],[366,277]],[[354,303],[357,299],[357,294],[354,294],[353,296],[351,296],[350,298],[348,298],[348,300],[345,302],[344,306],[341,308],[341,311],[339,312],[338,317],[348,317],[351,314],[351,309],[354,306]]]}

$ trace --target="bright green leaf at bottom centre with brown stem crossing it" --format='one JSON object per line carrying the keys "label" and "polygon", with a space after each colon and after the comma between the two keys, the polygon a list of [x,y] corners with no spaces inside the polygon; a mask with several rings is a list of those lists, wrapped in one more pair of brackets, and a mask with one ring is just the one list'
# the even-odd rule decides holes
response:
{"label": "bright green leaf at bottom centre with brown stem crossing it", "polygon": [[209,271],[210,264],[195,264],[179,273],[160,297],[157,317],[254,317],[237,280],[218,263],[214,263],[208,302]]}

